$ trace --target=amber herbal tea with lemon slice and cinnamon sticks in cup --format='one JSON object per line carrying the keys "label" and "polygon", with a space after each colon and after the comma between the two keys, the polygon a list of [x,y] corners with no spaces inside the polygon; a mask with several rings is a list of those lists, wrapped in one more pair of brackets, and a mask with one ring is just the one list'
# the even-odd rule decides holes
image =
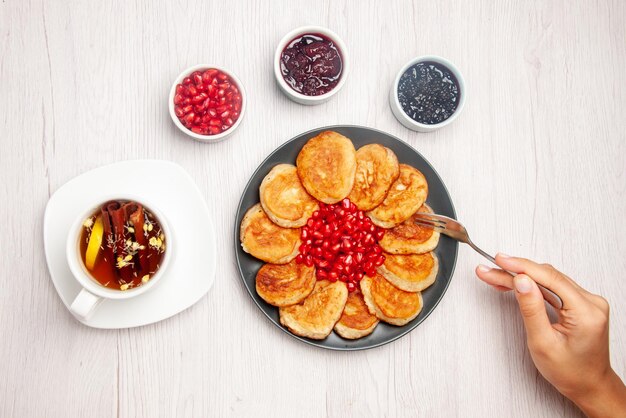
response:
{"label": "amber herbal tea with lemon slice and cinnamon sticks in cup", "polygon": [[158,219],[140,203],[112,200],[85,219],[80,255],[102,286],[128,290],[159,270],[165,241]]}

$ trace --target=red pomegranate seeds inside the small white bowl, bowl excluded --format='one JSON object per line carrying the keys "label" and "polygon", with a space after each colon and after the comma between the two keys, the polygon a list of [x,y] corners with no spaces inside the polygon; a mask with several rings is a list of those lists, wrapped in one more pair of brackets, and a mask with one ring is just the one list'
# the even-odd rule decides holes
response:
{"label": "red pomegranate seeds inside the small white bowl, bowl excluded", "polygon": [[240,112],[239,88],[220,70],[194,71],[176,86],[174,113],[197,134],[216,135],[230,129]]}

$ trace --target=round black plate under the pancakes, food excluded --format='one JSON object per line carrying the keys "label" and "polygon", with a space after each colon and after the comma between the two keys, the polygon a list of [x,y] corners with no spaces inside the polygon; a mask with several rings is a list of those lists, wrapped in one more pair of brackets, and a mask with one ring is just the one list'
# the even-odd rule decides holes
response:
{"label": "round black plate under the pancakes, food excluded", "polygon": [[420,155],[420,153],[394,136],[376,129],[362,126],[327,126],[300,134],[278,147],[254,172],[252,178],[244,189],[243,195],[241,196],[239,207],[237,208],[234,231],[237,265],[239,266],[239,272],[241,274],[243,284],[246,286],[248,293],[250,293],[250,297],[270,321],[272,321],[278,328],[300,341],[331,350],[364,350],[367,348],[378,347],[402,337],[417,327],[424,319],[426,319],[426,317],[428,317],[428,315],[430,315],[450,284],[450,279],[452,278],[452,273],[454,272],[454,266],[456,264],[458,243],[448,237],[444,237],[443,235],[441,236],[439,245],[435,250],[439,256],[439,274],[437,275],[437,280],[431,287],[422,292],[422,297],[424,299],[424,308],[422,309],[422,312],[420,312],[417,318],[402,327],[396,327],[381,322],[378,324],[373,333],[358,340],[343,339],[335,332],[331,332],[328,338],[324,340],[311,340],[308,338],[298,337],[297,335],[292,334],[287,328],[283,327],[278,319],[278,308],[267,304],[256,293],[256,273],[263,265],[263,262],[252,257],[250,254],[245,253],[241,249],[239,241],[239,225],[241,224],[241,219],[248,208],[259,203],[259,187],[261,186],[263,178],[267,175],[270,169],[280,163],[295,164],[296,157],[302,146],[310,138],[327,130],[336,131],[347,136],[352,140],[355,148],[357,149],[363,145],[371,143],[379,143],[390,148],[396,153],[400,163],[409,164],[420,170],[424,176],[426,176],[429,189],[427,203],[431,208],[433,208],[435,213],[456,219],[456,212],[454,211],[454,206],[452,205],[452,200],[450,199],[446,186],[441,181],[441,178],[435,169],[428,163],[428,161],[426,161],[424,157]]}

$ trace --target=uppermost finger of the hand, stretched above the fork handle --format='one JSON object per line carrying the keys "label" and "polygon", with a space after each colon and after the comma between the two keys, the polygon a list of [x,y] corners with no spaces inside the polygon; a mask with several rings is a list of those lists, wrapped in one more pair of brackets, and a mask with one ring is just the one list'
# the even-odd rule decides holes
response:
{"label": "uppermost finger of the hand, stretched above the fork handle", "polygon": [[537,264],[525,258],[511,257],[500,253],[496,255],[496,264],[506,270],[530,276],[537,283],[559,295],[567,308],[585,302],[583,295],[572,284],[571,280],[568,280],[563,273],[548,264]]}

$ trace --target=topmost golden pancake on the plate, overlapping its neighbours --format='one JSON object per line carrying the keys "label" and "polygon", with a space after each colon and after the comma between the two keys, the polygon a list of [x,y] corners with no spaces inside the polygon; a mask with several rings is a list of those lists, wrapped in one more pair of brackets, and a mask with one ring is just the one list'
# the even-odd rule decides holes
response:
{"label": "topmost golden pancake on the plate, overlapping its neighbours", "polygon": [[298,177],[311,196],[320,202],[337,203],[352,190],[356,151],[345,136],[325,131],[304,144],[296,166]]}

